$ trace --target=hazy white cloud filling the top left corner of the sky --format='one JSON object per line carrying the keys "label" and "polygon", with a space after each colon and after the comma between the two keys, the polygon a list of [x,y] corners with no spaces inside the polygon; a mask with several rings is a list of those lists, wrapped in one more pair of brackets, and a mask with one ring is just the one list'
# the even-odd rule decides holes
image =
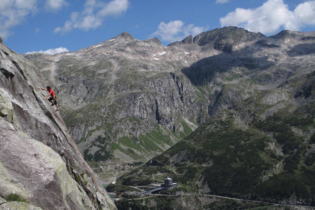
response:
{"label": "hazy white cloud filling the top left corner of the sky", "polygon": [[29,14],[37,11],[37,0],[1,0],[0,3],[0,36],[8,38],[11,29],[23,21]]}

